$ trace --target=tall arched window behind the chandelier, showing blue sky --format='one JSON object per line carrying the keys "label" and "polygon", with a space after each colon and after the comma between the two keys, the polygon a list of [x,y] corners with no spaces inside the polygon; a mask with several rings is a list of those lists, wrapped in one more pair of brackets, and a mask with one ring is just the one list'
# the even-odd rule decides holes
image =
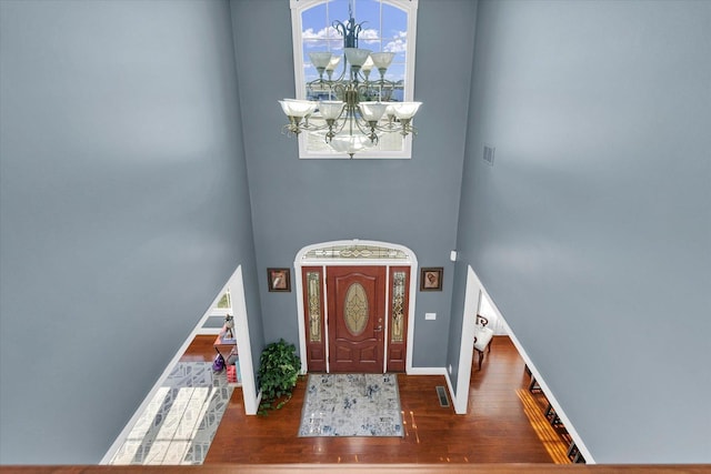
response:
{"label": "tall arched window behind the chandelier, showing blue sky", "polygon": [[[332,53],[323,77],[332,74],[333,79],[338,78],[344,72],[341,27],[353,18],[359,26],[358,48],[394,53],[384,75],[390,82],[377,90],[377,97],[369,100],[413,101],[417,8],[418,0],[291,0],[296,98],[336,99],[329,95],[332,95],[331,91],[307,87],[310,81],[319,79],[309,53]],[[339,22],[342,24],[339,26]],[[372,67],[372,61],[364,64],[362,71],[368,65]],[[372,67],[369,73],[372,74],[371,79],[380,79],[377,67]],[[322,121],[320,111],[314,113],[312,120]],[[412,135],[382,133],[375,147],[360,151],[353,158],[408,159],[411,157]],[[326,143],[323,133],[300,133],[299,158],[347,159],[348,154],[334,152]]]}

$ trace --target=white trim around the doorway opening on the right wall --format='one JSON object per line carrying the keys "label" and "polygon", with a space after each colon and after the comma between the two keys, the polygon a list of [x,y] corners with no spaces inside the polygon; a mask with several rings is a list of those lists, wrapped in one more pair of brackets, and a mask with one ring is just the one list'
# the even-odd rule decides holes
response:
{"label": "white trim around the doorway opening on the right wall", "polygon": [[[469,270],[471,271],[471,273],[468,272],[468,282],[467,282],[468,290],[467,291],[469,291],[469,278],[471,276],[473,279],[472,282],[475,283],[475,286],[479,289],[481,294],[483,294],[489,300],[489,302],[491,303],[491,307],[493,309],[493,311],[497,314],[497,316],[499,316],[499,321],[504,326],[509,337],[511,339],[511,342],[513,342],[513,345],[515,346],[517,351],[521,355],[521,359],[523,359],[523,362],[525,362],[525,364],[528,365],[529,370],[531,371],[531,373],[535,377],[535,381],[541,386],[541,390],[545,394],[545,397],[548,399],[548,401],[551,403],[551,405],[555,410],[555,414],[560,417],[560,420],[565,425],[565,430],[568,431],[570,436],[575,442],[575,446],[582,453],[583,457],[585,458],[585,462],[588,464],[595,464],[594,458],[592,457],[592,454],[590,454],[590,451],[588,451],[588,447],[585,446],[585,444],[583,443],[582,438],[580,437],[580,435],[575,431],[575,427],[573,426],[573,424],[570,422],[570,418],[568,418],[568,416],[565,415],[565,412],[563,411],[562,406],[560,405],[560,403],[558,403],[558,400],[555,400],[555,396],[553,395],[551,390],[545,384],[545,381],[541,377],[540,372],[538,371],[538,369],[535,369],[535,365],[533,364],[533,362],[531,362],[531,357],[529,357],[529,355],[525,353],[525,350],[523,349],[523,346],[521,345],[521,343],[517,339],[515,334],[513,333],[513,331],[511,331],[511,327],[507,323],[507,320],[503,317],[503,314],[501,314],[501,311],[499,311],[499,306],[497,306],[497,304],[493,301],[493,299],[489,295],[489,292],[487,291],[487,289],[484,288],[483,283],[481,282],[481,279],[479,278],[479,275],[477,275],[477,272],[471,266],[469,266]],[[467,307],[464,307],[464,310],[467,310]],[[471,314],[474,314],[474,313],[467,313],[464,311],[464,320],[467,320],[467,315],[468,314],[471,315]],[[472,344],[469,344],[467,341],[469,341],[469,340],[464,339],[464,334],[463,334],[463,331],[462,331],[462,349],[460,351],[460,376],[461,376],[461,366],[462,366],[461,357],[464,354],[464,345],[467,345],[467,346],[471,346],[472,345]],[[469,359],[464,360],[464,362],[465,362],[464,365],[467,365],[467,364],[469,365],[469,370],[467,370],[467,373],[470,373],[471,372],[471,365],[473,363],[473,357],[469,356]],[[469,397],[469,384],[462,385],[461,382],[462,381],[459,380],[458,384],[457,384],[458,386],[461,385],[461,391],[459,393],[459,397],[464,396],[464,394],[465,394],[467,397]]]}

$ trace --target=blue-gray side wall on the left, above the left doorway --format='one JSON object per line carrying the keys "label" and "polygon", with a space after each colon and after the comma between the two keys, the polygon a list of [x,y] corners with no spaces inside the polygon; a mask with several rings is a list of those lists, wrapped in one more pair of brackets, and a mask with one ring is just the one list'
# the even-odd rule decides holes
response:
{"label": "blue-gray side wall on the left, above the left doorway", "polygon": [[240,263],[263,342],[229,7],[0,13],[0,463],[97,463]]}

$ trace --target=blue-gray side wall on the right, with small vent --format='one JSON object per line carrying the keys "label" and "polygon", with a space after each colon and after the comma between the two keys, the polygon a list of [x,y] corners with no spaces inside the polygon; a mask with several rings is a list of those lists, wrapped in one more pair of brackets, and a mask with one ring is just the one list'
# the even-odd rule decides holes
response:
{"label": "blue-gray side wall on the right, with small vent", "polygon": [[599,463],[711,462],[710,51],[707,1],[480,2],[458,266]]}

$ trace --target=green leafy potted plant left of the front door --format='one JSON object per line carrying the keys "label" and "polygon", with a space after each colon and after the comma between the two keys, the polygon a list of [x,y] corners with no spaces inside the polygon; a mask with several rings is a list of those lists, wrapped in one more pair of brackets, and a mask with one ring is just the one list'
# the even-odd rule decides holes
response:
{"label": "green leafy potted plant left of the front door", "polygon": [[293,344],[283,339],[268,344],[259,360],[259,387],[262,400],[259,404],[260,415],[271,410],[281,409],[289,400],[299,379],[301,360],[297,356]]}

